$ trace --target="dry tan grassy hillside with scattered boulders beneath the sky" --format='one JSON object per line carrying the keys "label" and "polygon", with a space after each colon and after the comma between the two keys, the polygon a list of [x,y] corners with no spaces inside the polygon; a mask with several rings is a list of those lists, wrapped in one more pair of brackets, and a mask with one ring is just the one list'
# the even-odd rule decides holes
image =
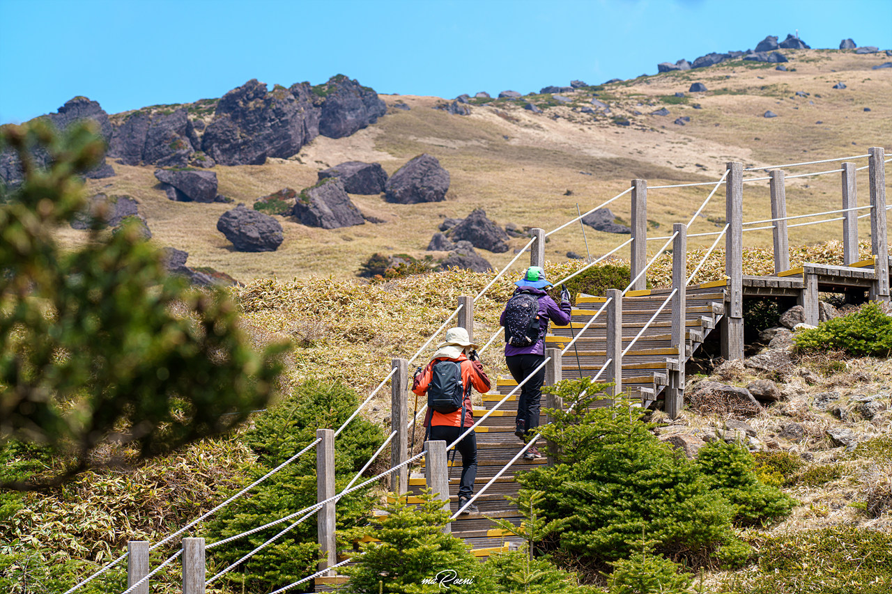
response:
{"label": "dry tan grassy hillside with scattered boulders beneath the sky", "polygon": [[[531,95],[518,102],[475,100],[469,116],[432,109],[442,101],[436,97],[383,95],[388,104],[402,101],[411,111],[391,109],[375,125],[346,138],[319,136],[288,160],[271,159],[261,166],[218,166],[219,192],[236,203],[250,205],[286,186],[297,190],[310,186],[316,182],[318,170],[343,161],[380,161],[392,174],[417,154],[430,153],[450,171],[446,201],[401,205],[388,204],[380,196],[353,196],[360,210],[385,222],[335,230],[279,218],[285,243],[277,252],[234,252],[216,230],[219,215],[233,205],[170,202],[156,187],[151,166],[116,164],[117,177],[90,181],[89,188],[135,196],[153,231],[153,241],[186,250],[191,266],[217,268],[243,282],[272,276],[346,278],[374,252],[422,255],[442,218],[465,217],[475,208],[483,208],[502,226],[512,222],[551,229],[575,215],[577,202],[583,211],[591,209],[623,191],[632,178],[647,179],[650,186],[706,182],[721,177],[726,161],[764,167],[863,154],[875,145],[892,148],[892,70],[871,70],[888,61],[885,54],[855,55],[837,50],[790,50],[787,54],[791,58],[787,72],[774,70],[774,64],[724,62],[707,69],[588,87],[566,94],[572,99],[567,104],[558,103],[552,95]],[[831,88],[839,80],[847,84],[846,89]],[[708,91],[688,93],[692,82],[704,83]],[[797,91],[809,95],[797,96]],[[676,92],[685,96],[675,97]],[[573,111],[591,106],[594,94],[610,106],[610,113]],[[540,105],[544,113],[525,111],[526,100]],[[649,115],[660,107],[670,114]],[[864,111],[865,107],[871,111]],[[779,117],[765,119],[767,110]],[[685,116],[690,117],[690,123],[673,124]],[[630,120],[630,126],[615,123],[623,118]],[[759,172],[747,175],[762,176]],[[892,176],[887,180],[892,184]],[[866,183],[865,173],[858,184],[861,204],[868,200]],[[838,208],[839,186],[836,175],[790,179],[789,214]],[[660,229],[690,219],[709,189],[649,192],[652,233],[665,235]],[[627,197],[610,208],[619,219],[630,219]],[[747,184],[745,218],[764,219],[769,212],[767,182]],[[723,219],[723,192],[704,215],[692,233],[714,230],[716,225],[708,219]],[[840,237],[839,227],[791,229],[790,244]],[[606,252],[623,241],[618,235],[591,228],[586,233],[593,253]],[[866,231],[862,233],[866,236]],[[82,237],[74,230],[65,233],[72,243]],[[566,260],[570,250],[585,253],[578,226],[549,239],[549,260]],[[767,245],[771,235],[755,232],[747,234],[746,241],[747,245]],[[514,239],[511,245],[516,249],[524,243]],[[698,245],[698,240],[691,239],[691,243]],[[700,243],[708,244],[705,239]],[[497,268],[513,255],[482,253]]]}

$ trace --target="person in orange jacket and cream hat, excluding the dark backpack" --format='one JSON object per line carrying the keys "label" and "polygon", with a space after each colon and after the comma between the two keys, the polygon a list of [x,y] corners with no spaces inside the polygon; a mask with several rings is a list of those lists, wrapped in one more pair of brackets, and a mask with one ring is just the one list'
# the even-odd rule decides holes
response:
{"label": "person in orange jacket and cream hat, excluding the dark backpack", "polygon": [[[477,392],[489,392],[491,388],[490,378],[483,371],[483,365],[476,359],[478,345],[471,342],[465,328],[450,328],[446,332],[446,340],[437,345],[434,358],[427,364],[424,370],[415,375],[412,383],[412,392],[418,396],[425,396],[427,389],[434,378],[434,364],[442,360],[450,360],[458,363],[461,369],[461,381],[464,388],[462,408],[454,412],[437,412],[431,407],[427,408],[425,415],[425,427],[427,427],[428,439],[431,441],[446,441],[452,443],[458,436],[465,432],[467,427],[474,425],[474,409],[471,407],[471,387]],[[468,359],[468,354],[471,359]],[[464,418],[464,423],[462,423]],[[458,485],[458,507],[465,505],[467,499],[474,494],[474,481],[477,475],[477,437],[472,431],[468,433],[456,445],[461,454],[461,480]],[[474,514],[479,510],[475,505],[465,508],[463,514]]]}

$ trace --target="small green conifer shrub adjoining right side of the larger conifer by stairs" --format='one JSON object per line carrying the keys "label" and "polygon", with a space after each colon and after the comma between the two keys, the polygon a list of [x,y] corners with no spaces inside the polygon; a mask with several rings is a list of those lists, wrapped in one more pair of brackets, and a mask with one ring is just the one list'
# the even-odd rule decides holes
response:
{"label": "small green conifer shrub adjoining right side of the larger conifer by stairs", "polygon": [[759,524],[789,516],[796,499],[776,487],[759,482],[754,472],[756,460],[737,443],[713,441],[701,448],[697,464],[713,491],[736,507],[735,523]]}

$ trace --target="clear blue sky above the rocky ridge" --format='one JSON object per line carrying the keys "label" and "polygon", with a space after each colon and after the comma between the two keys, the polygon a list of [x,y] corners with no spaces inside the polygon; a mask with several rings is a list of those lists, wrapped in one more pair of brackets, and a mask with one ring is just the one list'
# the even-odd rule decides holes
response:
{"label": "clear blue sky above the rocky ridge", "polygon": [[521,93],[796,33],[892,48],[892,0],[0,0],[0,122],[343,73],[379,93]]}

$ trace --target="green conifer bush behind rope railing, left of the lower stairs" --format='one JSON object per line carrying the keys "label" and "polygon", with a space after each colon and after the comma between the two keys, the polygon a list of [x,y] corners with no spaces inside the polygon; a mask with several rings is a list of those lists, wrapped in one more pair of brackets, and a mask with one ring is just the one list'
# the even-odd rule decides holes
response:
{"label": "green conifer bush behind rope railing, left of the lower stairs", "polygon": [[[290,398],[259,417],[256,426],[245,434],[245,441],[257,454],[257,464],[250,469],[251,475],[246,482],[267,474],[305,448],[316,439],[317,428],[336,429],[342,425],[358,405],[356,392],[342,384],[315,380],[300,384]],[[335,440],[336,491],[346,488],[383,441],[381,428],[362,417],[354,418],[338,434]],[[251,497],[236,499],[221,510],[208,524],[206,537],[209,542],[227,538],[309,507],[316,503],[316,488],[316,455],[315,450],[310,450],[261,483],[252,491]],[[373,505],[368,490],[339,499],[336,504],[337,527],[348,529],[365,524],[368,510]],[[279,524],[214,549],[209,556],[213,569],[219,571],[233,563],[290,524]],[[293,582],[294,576],[314,573],[318,560],[316,527],[316,516],[310,516],[228,573],[223,582],[233,586],[238,584],[239,591],[243,588],[246,591],[269,591]]]}

